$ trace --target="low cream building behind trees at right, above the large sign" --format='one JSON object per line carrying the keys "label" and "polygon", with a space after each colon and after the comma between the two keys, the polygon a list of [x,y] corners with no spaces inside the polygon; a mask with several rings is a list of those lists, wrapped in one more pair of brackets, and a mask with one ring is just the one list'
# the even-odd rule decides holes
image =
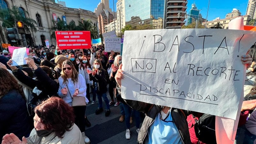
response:
{"label": "low cream building behind trees at right, above the large sign", "polygon": [[[245,16],[242,16],[242,17],[244,19],[244,25],[249,25],[250,16],[245,15]],[[232,19],[235,19],[235,17],[233,17],[233,18],[224,18],[224,19],[216,18],[215,20],[212,20],[212,21],[203,22],[202,25],[205,26],[205,24],[206,24],[206,27],[210,28],[210,27],[214,26],[217,22],[220,22],[222,24],[223,29],[226,29],[229,25],[229,22]]]}

